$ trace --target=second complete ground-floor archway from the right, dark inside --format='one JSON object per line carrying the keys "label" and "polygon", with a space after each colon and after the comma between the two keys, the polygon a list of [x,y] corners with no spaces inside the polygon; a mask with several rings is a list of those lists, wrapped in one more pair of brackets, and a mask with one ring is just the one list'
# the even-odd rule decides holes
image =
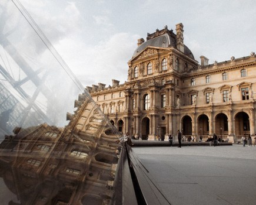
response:
{"label": "second complete ground-floor archway from the right, dark inside", "polygon": [[215,117],[215,134],[228,135],[228,117],[224,113],[220,113]]}

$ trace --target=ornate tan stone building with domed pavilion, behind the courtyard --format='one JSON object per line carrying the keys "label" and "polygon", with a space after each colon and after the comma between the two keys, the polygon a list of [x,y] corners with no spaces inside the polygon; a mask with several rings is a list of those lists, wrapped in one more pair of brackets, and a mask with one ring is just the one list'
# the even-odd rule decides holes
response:
{"label": "ornate tan stone building with domed pavilion, behind the courtyard", "polygon": [[128,80],[87,86],[101,110],[120,132],[155,139],[181,130],[230,141],[255,134],[255,53],[225,62],[200,64],[184,45],[183,25],[176,34],[165,26],[138,39],[128,62]]}

